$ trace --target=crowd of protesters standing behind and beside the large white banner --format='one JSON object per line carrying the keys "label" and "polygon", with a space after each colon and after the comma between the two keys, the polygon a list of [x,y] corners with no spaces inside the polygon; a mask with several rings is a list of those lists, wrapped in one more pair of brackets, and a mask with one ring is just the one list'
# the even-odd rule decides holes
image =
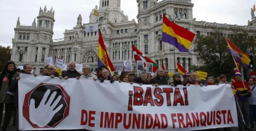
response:
{"label": "crowd of protesters standing behind and beside the large white banner", "polygon": [[[54,65],[45,65],[42,70],[42,76],[50,76],[51,78],[59,77],[59,79],[88,79],[100,82],[127,82],[130,84],[150,84],[152,86],[159,85],[170,85],[176,87],[178,85],[190,86],[196,84],[199,86],[210,86],[219,84],[231,84],[233,92],[235,94],[235,99],[237,100],[237,116],[239,123],[239,130],[253,130],[254,121],[256,120],[256,91],[255,81],[253,78],[249,77],[246,81],[242,80],[240,72],[235,73],[235,81],[228,82],[225,74],[220,75],[214,79],[213,76],[209,76],[205,83],[202,83],[197,79],[195,72],[187,72],[182,81],[182,76],[178,73],[173,74],[172,77],[168,75],[168,70],[158,68],[156,71],[156,76],[150,78],[150,74],[147,72],[140,72],[135,74],[134,71],[125,71],[126,67],[123,67],[121,75],[118,76],[114,74],[112,77],[109,75],[109,71],[106,67],[98,67],[97,73],[93,74],[92,67],[89,65],[83,66],[83,72],[78,72],[75,69],[75,63],[70,62],[67,71],[62,71],[60,76],[55,72],[56,67]],[[25,64],[23,70],[16,69],[16,64],[9,61],[3,67],[2,72],[0,72],[0,113],[3,113],[3,107],[5,107],[5,115],[3,119],[3,126],[1,131],[6,131],[7,126],[10,122],[10,117],[12,111],[16,111],[16,129],[18,130],[18,81],[21,79],[19,73],[33,74],[32,66],[30,64]],[[33,74],[37,76],[37,74]],[[8,92],[8,93],[7,93]],[[2,122],[2,115],[0,115],[0,123]],[[230,128],[225,128],[225,130],[231,130]]]}

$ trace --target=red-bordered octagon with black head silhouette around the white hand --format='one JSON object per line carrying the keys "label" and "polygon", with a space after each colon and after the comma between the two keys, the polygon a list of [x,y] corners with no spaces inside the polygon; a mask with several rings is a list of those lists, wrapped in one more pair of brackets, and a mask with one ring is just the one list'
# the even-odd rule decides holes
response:
{"label": "red-bordered octagon with black head silhouette around the white hand", "polygon": [[[50,87],[50,88],[49,88]],[[53,92],[52,89],[58,90],[59,92],[61,92],[61,95],[63,96],[62,99],[62,104],[63,105],[63,109],[61,109],[60,111],[58,111],[56,113],[56,115],[59,115],[59,118],[56,118],[55,116],[52,118],[52,121],[50,121],[50,123],[48,123],[46,126],[44,127],[39,127],[38,125],[32,123],[29,119],[29,101],[31,99],[32,96],[35,97],[35,94],[44,94],[45,92],[39,92],[38,91],[42,91],[42,90],[47,90],[50,89],[51,93]],[[35,93],[36,92],[36,93]],[[36,96],[40,96],[37,95]],[[42,96],[42,95],[41,95]],[[57,95],[56,95],[57,96]],[[48,96],[49,99],[50,95]],[[38,98],[41,99],[42,98]],[[47,101],[48,101],[47,99]],[[61,101],[60,101],[61,102]],[[60,103],[59,102],[59,103]],[[36,104],[35,104],[36,105]],[[23,113],[23,117],[28,121],[28,123],[33,127],[33,128],[55,128],[57,125],[59,125],[62,121],[64,121],[64,119],[67,118],[67,116],[69,116],[69,109],[70,109],[70,95],[67,93],[67,91],[64,89],[64,87],[62,87],[60,84],[52,84],[52,83],[40,83],[37,86],[35,86],[34,88],[32,88],[30,91],[26,92],[25,96],[24,96],[24,102],[23,102],[23,106],[22,106],[22,113]],[[60,114],[61,112],[61,114]],[[43,119],[43,118],[41,118]],[[54,121],[55,120],[55,121]]]}

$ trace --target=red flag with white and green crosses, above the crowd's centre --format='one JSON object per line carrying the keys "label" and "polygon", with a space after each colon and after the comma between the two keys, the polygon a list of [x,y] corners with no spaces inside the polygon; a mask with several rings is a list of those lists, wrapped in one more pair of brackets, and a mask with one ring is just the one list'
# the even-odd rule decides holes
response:
{"label": "red flag with white and green crosses, above the crowd's centre", "polygon": [[[158,69],[158,65],[153,62],[152,60],[150,60],[146,55],[142,54],[142,52],[140,52],[140,50],[138,50],[134,44],[131,44],[132,47],[132,51],[133,51],[133,55],[134,55],[134,59],[137,62],[137,60],[143,61],[144,62],[144,67],[146,67],[147,63],[153,63],[153,73],[156,72],[156,70]],[[153,76],[154,74],[151,73],[151,76]]]}

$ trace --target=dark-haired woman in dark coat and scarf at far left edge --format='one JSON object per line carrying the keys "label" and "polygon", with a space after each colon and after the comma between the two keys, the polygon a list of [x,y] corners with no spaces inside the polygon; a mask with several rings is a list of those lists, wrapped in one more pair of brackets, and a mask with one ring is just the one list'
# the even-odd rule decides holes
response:
{"label": "dark-haired woman in dark coat and scarf at far left edge", "polygon": [[0,72],[0,123],[2,123],[3,106],[5,106],[2,131],[6,131],[11,117],[11,107],[13,106],[13,96],[8,94],[7,91],[10,90],[11,84],[18,76],[19,72],[16,72],[13,61],[8,61]]}

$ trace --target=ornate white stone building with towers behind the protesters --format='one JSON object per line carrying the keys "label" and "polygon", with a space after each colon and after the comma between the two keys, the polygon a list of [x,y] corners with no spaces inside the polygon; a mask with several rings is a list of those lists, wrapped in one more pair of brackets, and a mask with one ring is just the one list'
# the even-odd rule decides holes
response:
{"label": "ornate white stone building with towers behind the protesters", "polygon": [[[81,15],[78,16],[76,25],[72,30],[65,30],[63,39],[52,39],[54,27],[54,11],[40,7],[37,22],[34,20],[31,26],[22,26],[19,18],[12,40],[11,60],[18,66],[30,63],[36,67],[37,73],[42,71],[46,57],[64,59],[64,64],[76,62],[89,64],[93,70],[97,68],[97,50],[99,31],[85,32],[88,25],[98,25],[101,30],[107,52],[113,63],[123,63],[124,60],[133,59],[131,44],[135,44],[150,59],[161,67],[161,60],[169,72],[175,71],[174,50],[176,61],[190,71],[190,65],[200,66],[203,62],[197,60],[197,54],[190,46],[189,53],[179,52],[173,45],[162,43],[162,15],[178,16],[175,23],[194,32],[196,35],[210,35],[213,29],[222,29],[223,35],[232,34],[233,29],[246,30],[250,35],[256,32],[256,18],[251,12],[251,25],[239,26],[230,24],[218,24],[216,22],[196,21],[193,18],[191,0],[137,0],[138,23],[128,20],[128,16],[121,11],[120,0],[99,0],[99,7],[95,8],[99,16],[94,15],[94,9],[90,12],[90,21],[82,23]],[[93,7],[92,7],[93,8]],[[182,15],[181,17],[179,15]],[[74,21],[75,22],[75,21]]]}

